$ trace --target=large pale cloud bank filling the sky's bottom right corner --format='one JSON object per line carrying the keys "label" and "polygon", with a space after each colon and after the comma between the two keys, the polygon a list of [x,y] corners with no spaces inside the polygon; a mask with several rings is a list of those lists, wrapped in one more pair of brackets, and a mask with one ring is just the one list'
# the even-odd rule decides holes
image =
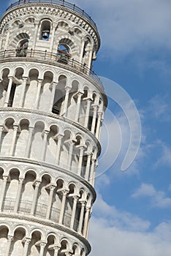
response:
{"label": "large pale cloud bank filling the sky's bottom right corner", "polygon": [[171,223],[161,222],[151,232],[147,231],[149,225],[148,221],[109,206],[99,195],[88,238],[92,245],[90,256],[170,256]]}

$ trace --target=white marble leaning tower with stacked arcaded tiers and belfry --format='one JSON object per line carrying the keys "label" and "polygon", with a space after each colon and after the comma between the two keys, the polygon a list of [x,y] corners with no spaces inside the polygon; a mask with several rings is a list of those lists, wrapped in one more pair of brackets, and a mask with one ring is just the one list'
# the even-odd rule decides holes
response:
{"label": "white marble leaning tower with stacked arcaded tiers and belfry", "polygon": [[100,39],[75,4],[20,0],[0,21],[0,256],[86,256],[107,105]]}

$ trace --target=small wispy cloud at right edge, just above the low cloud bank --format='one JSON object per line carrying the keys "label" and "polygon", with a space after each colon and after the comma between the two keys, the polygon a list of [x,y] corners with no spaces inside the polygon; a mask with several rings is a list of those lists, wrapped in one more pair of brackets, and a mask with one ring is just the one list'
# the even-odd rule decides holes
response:
{"label": "small wispy cloud at right edge, just above the low cloud bank", "polygon": [[170,208],[171,207],[171,197],[167,197],[166,193],[163,191],[157,191],[152,184],[141,184],[140,188],[137,189],[132,197],[150,197],[151,206],[159,208]]}

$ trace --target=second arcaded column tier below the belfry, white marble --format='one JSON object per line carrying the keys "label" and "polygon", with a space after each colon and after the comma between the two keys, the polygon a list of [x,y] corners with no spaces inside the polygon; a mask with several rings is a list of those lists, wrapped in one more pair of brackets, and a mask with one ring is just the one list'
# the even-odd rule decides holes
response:
{"label": "second arcaded column tier below the belfry, white marble", "polygon": [[45,162],[94,185],[101,148],[91,132],[60,116],[32,110],[1,108],[0,115],[0,157]]}

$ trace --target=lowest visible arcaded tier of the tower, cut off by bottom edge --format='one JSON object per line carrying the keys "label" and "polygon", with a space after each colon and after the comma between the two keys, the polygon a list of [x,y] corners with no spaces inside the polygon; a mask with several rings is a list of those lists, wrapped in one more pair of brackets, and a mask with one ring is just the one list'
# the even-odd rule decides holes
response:
{"label": "lowest visible arcaded tier of the tower, cut off by bottom edge", "polygon": [[68,233],[55,227],[39,228],[29,219],[22,225],[5,214],[1,214],[0,224],[0,256],[34,255],[34,256],[86,256],[90,252],[90,244],[77,233]]}

